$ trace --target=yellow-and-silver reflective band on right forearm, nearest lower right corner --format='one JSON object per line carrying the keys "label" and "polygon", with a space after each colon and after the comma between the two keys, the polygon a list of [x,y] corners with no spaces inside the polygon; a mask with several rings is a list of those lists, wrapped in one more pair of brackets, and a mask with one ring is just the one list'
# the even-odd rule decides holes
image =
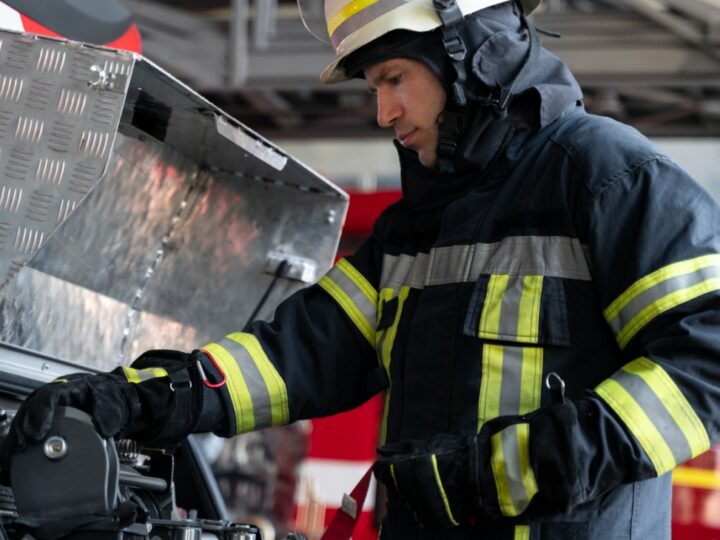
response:
{"label": "yellow-and-silver reflective band on right forearm, nearest lower right corner", "polygon": [[595,391],[638,440],[658,476],[710,449],[700,418],[655,362],[633,360]]}

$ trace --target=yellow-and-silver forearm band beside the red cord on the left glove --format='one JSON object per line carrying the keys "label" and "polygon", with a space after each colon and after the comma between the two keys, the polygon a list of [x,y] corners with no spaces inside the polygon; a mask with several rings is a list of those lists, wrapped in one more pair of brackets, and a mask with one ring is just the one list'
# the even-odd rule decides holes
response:
{"label": "yellow-and-silver forearm band beside the red cord on the left glove", "polygon": [[212,354],[227,377],[236,415],[236,433],[289,422],[285,382],[255,336],[230,334],[203,349]]}

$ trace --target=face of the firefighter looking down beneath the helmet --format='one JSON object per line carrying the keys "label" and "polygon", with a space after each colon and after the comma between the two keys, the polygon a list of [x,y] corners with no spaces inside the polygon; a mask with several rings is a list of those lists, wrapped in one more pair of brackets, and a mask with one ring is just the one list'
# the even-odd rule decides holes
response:
{"label": "face of the firefighter looking down beneath the helmet", "polygon": [[367,68],[368,90],[377,98],[377,122],[392,128],[400,143],[418,154],[420,163],[437,163],[438,117],[446,93],[432,71],[416,60],[392,58]]}

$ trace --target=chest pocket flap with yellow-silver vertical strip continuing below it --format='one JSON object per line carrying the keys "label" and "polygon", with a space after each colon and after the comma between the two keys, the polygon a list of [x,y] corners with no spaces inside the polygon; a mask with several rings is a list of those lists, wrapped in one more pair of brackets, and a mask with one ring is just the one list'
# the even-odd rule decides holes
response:
{"label": "chest pocket flap with yellow-silver vertical strip continuing below it", "polygon": [[545,347],[570,344],[560,278],[492,274],[475,283],[463,333],[482,341],[477,430],[540,407]]}

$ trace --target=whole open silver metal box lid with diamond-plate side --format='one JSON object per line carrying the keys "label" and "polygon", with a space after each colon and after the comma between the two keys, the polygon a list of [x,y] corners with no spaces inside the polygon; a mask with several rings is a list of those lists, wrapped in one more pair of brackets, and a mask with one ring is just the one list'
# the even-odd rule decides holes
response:
{"label": "whole open silver metal box lid with diamond-plate side", "polygon": [[347,208],[151,62],[4,31],[0,174],[0,364],[10,346],[108,369],[238,330],[278,261],[330,266]]}

